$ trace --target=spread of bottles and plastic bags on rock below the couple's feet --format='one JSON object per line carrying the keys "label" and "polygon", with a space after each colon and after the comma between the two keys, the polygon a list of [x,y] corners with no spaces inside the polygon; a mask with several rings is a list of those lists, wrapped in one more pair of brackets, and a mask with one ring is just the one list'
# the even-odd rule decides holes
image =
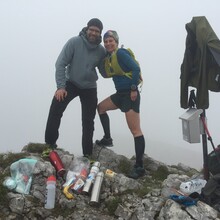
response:
{"label": "spread of bottles and plastic bags on rock below the couple's feet", "polygon": [[[46,209],[55,207],[57,178],[62,180],[62,192],[67,199],[74,199],[74,194],[90,195],[90,205],[98,205],[104,175],[116,175],[110,169],[106,169],[105,173],[100,171],[100,162],[86,157],[74,157],[67,172],[56,150],[50,150],[48,158],[56,170],[56,176],[52,174],[46,181]],[[29,194],[36,162],[36,159],[24,158],[12,163],[11,176],[5,178],[3,185],[17,193]]]}

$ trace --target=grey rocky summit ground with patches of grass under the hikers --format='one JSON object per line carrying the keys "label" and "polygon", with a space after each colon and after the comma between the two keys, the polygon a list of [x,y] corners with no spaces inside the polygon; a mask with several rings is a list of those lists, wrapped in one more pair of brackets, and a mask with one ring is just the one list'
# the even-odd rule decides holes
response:
{"label": "grey rocky summit ground with patches of grass under the hikers", "polygon": [[[94,145],[93,159],[100,162],[104,173],[98,202],[91,202],[91,192],[83,194],[72,192],[68,198],[63,193],[65,175],[71,172],[76,156],[58,148],[58,153],[66,174],[57,176],[55,207],[45,209],[46,180],[57,175],[56,169],[42,152],[44,144],[30,143],[21,153],[0,155],[0,219],[46,219],[46,220],[178,220],[178,219],[220,219],[219,212],[198,200],[193,205],[185,205],[174,200],[188,198],[180,191],[180,184],[191,178],[202,178],[202,173],[184,164],[166,165],[144,156],[146,174],[135,180],[127,177],[135,158],[117,155],[109,148]],[[3,185],[11,175],[10,165],[21,159],[37,160],[33,172],[30,191],[18,193]],[[106,173],[106,170],[112,171]]]}

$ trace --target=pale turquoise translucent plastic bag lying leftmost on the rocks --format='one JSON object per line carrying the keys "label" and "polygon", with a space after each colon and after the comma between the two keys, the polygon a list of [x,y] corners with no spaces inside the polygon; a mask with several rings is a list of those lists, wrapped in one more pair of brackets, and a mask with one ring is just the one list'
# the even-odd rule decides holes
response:
{"label": "pale turquoise translucent plastic bag lying leftmost on the rocks", "polygon": [[10,166],[11,177],[7,177],[3,185],[18,193],[29,194],[36,162],[35,159],[24,158],[12,163]]}

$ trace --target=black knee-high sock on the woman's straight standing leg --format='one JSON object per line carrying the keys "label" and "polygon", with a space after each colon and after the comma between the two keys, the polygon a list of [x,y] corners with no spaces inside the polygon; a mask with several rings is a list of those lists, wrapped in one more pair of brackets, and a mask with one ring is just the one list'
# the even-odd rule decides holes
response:
{"label": "black knee-high sock on the woman's straight standing leg", "polygon": [[145,139],[144,136],[134,138],[135,153],[136,153],[136,165],[143,167],[143,155],[145,150]]}

